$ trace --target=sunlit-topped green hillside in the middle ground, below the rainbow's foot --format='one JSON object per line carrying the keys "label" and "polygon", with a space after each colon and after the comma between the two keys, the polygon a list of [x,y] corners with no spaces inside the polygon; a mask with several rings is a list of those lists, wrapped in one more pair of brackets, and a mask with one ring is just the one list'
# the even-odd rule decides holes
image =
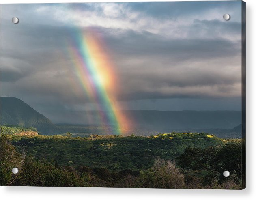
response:
{"label": "sunlit-topped green hillside in the middle ground, below the rainbow's foot", "polygon": [[13,145],[26,146],[28,156],[60,166],[105,167],[110,171],[150,168],[154,159],[176,159],[187,147],[223,146],[224,141],[204,133],[166,133],[149,137],[100,136],[13,136]]}

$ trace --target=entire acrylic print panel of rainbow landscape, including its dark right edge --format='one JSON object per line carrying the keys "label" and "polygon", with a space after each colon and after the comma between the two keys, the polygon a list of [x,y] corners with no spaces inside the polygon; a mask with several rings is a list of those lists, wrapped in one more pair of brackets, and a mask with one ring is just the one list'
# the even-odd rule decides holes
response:
{"label": "entire acrylic print panel of rainbow landscape, including its dark right edge", "polygon": [[2,4],[1,185],[245,188],[245,3]]}

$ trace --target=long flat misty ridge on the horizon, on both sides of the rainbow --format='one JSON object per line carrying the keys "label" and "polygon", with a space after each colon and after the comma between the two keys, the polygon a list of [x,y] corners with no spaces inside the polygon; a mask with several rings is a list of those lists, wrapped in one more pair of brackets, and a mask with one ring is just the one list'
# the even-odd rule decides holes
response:
{"label": "long flat misty ridge on the horizon, on both sides of the rainbow", "polygon": [[[132,120],[136,129],[158,132],[172,129],[233,129],[242,122],[241,111],[124,110],[123,114]],[[59,124],[99,125],[97,122],[100,121],[97,111],[61,111],[50,116],[54,123]]]}

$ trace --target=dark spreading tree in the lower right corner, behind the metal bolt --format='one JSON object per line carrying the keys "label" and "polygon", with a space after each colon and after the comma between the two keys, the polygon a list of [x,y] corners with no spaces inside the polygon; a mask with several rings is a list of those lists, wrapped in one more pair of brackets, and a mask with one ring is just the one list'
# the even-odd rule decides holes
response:
{"label": "dark spreading tree in the lower right corner, behind the metal bolt", "polygon": [[[187,148],[179,157],[178,165],[185,170],[207,172],[202,180],[204,186],[215,180],[218,184],[229,180],[239,184],[242,176],[241,148],[241,142],[229,142],[223,148]],[[223,176],[226,170],[230,172],[229,177]]]}

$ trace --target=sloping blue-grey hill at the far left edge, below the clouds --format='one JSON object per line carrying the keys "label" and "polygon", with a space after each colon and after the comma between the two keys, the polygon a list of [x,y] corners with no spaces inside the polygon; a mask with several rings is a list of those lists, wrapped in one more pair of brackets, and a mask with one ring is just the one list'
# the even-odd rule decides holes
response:
{"label": "sloping blue-grey hill at the far left edge, below the clouds", "polygon": [[44,134],[57,129],[51,120],[15,97],[1,97],[1,125],[4,124],[35,127]]}

